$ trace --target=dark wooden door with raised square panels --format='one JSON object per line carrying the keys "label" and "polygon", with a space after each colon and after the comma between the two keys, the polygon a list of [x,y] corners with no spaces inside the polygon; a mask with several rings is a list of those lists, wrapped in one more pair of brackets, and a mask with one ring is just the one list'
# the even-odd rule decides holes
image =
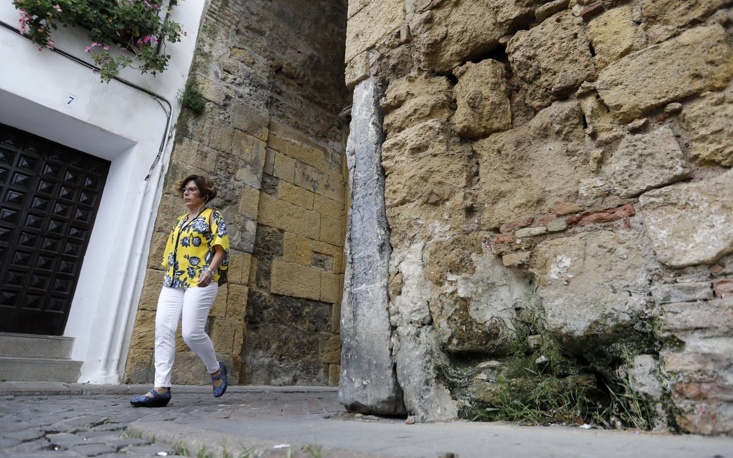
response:
{"label": "dark wooden door with raised square panels", "polygon": [[109,161],[0,124],[0,331],[62,335]]}

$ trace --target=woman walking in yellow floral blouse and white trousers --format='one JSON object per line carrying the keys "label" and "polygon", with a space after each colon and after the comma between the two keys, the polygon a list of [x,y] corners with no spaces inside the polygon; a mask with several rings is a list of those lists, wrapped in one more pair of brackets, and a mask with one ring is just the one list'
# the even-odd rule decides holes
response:
{"label": "woman walking in yellow floral blouse and white trousers", "polygon": [[188,212],[174,223],[163,256],[162,265],[168,270],[155,312],[155,387],[130,399],[133,407],[163,407],[171,400],[179,318],[183,340],[211,374],[214,397],[226,391],[226,367],[216,359],[204,330],[218,281],[229,263],[226,223],[218,211],[206,206],[216,197],[210,178],[189,175],[178,183],[178,188]]}

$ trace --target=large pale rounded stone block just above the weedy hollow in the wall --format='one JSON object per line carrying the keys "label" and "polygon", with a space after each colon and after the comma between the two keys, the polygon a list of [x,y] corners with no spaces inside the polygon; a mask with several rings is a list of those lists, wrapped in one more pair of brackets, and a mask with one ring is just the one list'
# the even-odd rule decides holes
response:
{"label": "large pale rounded stone block just above the weedy hollow in the wall", "polygon": [[536,265],[548,329],[568,345],[613,339],[649,306],[641,247],[615,233],[545,241],[537,246]]}

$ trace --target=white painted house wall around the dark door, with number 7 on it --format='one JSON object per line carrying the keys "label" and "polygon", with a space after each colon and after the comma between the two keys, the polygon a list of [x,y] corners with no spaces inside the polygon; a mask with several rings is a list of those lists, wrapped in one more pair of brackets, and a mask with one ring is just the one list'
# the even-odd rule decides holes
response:
{"label": "white painted house wall around the dark door, with number 7 on it", "polygon": [[[158,76],[126,69],[120,77],[172,104],[185,85],[205,0],[183,0],[171,19],[188,32],[168,44],[168,69]],[[0,21],[18,25],[18,11],[0,0]],[[83,29],[53,35],[56,48],[93,63]],[[68,96],[74,95],[72,104]],[[75,338],[72,358],[83,360],[80,382],[118,383],[142,287],[161,173],[145,181],[166,133],[168,105],[118,81],[100,83],[92,70],[38,51],[34,43],[0,27],[0,123],[111,161],[89,247],[81,268],[65,335]],[[166,139],[171,138],[168,135]],[[167,142],[161,164],[167,164]],[[128,263],[122,262],[128,260]],[[137,269],[134,267],[138,266]],[[119,305],[119,308],[118,308]],[[120,347],[120,343],[121,347]]]}

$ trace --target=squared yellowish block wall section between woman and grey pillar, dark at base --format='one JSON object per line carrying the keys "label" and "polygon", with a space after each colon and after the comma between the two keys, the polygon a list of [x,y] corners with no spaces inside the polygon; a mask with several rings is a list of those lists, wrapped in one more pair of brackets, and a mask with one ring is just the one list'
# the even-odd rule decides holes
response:
{"label": "squared yellowish block wall section between woman and grey pillar, dark at base", "polygon": [[343,150],[270,123],[249,277],[243,382],[335,384],[344,282]]}

